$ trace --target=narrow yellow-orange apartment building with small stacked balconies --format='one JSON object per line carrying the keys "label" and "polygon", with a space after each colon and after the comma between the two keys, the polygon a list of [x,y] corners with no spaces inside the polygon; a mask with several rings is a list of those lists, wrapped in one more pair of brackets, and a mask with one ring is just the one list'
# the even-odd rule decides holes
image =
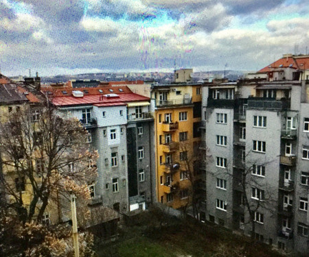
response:
{"label": "narrow yellow-orange apartment building with small stacked balconies", "polygon": [[[192,204],[193,184],[205,189],[194,160],[201,141],[201,84],[183,81],[153,85],[151,99],[155,112],[157,201],[176,209],[187,208]],[[198,193],[205,195],[205,191]]]}

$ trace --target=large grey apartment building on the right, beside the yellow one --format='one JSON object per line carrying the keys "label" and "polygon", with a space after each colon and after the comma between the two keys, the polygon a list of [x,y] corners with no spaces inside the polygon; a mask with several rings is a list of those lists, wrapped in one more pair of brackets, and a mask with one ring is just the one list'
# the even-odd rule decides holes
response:
{"label": "large grey apartment building on the right, beside the yellow one", "polygon": [[260,71],[265,81],[203,86],[206,218],[302,254],[309,249],[308,71],[301,69],[308,60],[285,55]]}

